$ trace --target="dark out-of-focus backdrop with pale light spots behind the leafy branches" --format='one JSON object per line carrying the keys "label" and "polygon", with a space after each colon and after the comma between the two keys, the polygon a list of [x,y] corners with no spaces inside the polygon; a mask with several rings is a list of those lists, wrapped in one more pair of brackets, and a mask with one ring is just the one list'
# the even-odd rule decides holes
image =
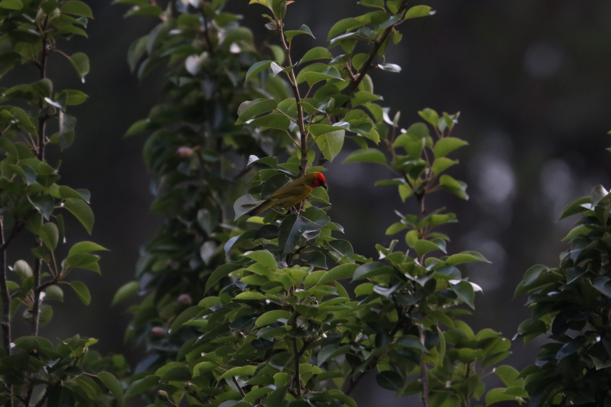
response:
{"label": "dark out-of-focus backdrop with pale light spots behind the leafy branches", "polygon": [[[525,270],[536,263],[557,264],[557,254],[565,248],[560,239],[575,219],[558,222],[562,207],[588,195],[595,184],[609,185],[604,148],[609,146],[606,133],[611,127],[611,93],[606,88],[611,84],[611,3],[427,4],[436,15],[402,27],[404,40],[389,50],[386,62],[403,70],[375,72],[375,92],[386,95],[384,104],[403,112],[400,126],[417,121],[416,112],[423,107],[461,111],[457,136],[470,147],[459,152],[463,165],[457,171],[463,173],[455,175],[469,185],[470,200],[440,195],[452,202],[431,206],[450,206],[458,215],[460,222],[448,230],[456,237],[453,251],[477,250],[493,263],[469,268],[470,279],[484,290],[470,320],[473,328],[488,326],[511,337],[530,313],[524,308],[525,298],[513,300]],[[156,103],[161,73],[137,83],[126,52],[131,41],[150,31],[156,21],[125,20],[125,9],[109,2],[90,6],[95,20],[87,29],[89,38],[73,38],[67,45],[68,51],[73,47],[89,55],[92,70],[87,82],[72,83],[76,79],[67,63],[51,64],[57,71],[49,76],[59,78],[65,71],[65,79],[56,79],[57,86],[81,88],[90,96],[73,109],[81,137],[62,154],[62,177],[92,192],[93,239],[112,251],[101,261],[103,277],[92,275],[86,281],[92,287],[89,308],[73,308],[70,301],[78,300],[67,299],[56,312],[62,315],[64,307],[72,317],[61,326],[42,328],[41,334],[65,337],[79,331],[101,339],[98,351],[123,352],[129,358],[134,350],[123,344],[125,304],[110,303],[115,290],[133,279],[139,247],[153,236],[160,219],[148,214],[152,195],[142,163],[144,137],[122,135]],[[308,24],[316,36],[297,41],[304,49],[323,45],[338,18],[359,12],[354,0],[298,0],[290,7],[299,11],[290,13],[287,25]],[[262,30],[263,9],[237,0],[230,2],[230,9],[244,15],[244,24],[255,31],[255,42],[269,35]],[[1,85],[9,87],[21,74],[26,73],[16,70],[2,77]],[[397,220],[393,209],[401,203],[394,189],[373,187],[380,178],[375,171],[384,170],[368,164],[341,165],[342,159],[334,160],[326,173],[333,204],[329,215],[345,226],[355,251],[374,256],[374,243],[392,238],[384,237],[384,230]],[[75,236],[75,241],[85,238],[77,225],[68,236]],[[535,345],[516,341],[507,362],[516,369],[530,364]],[[368,405],[367,391],[360,393],[363,398],[355,398]],[[389,394],[391,402],[393,397]]]}

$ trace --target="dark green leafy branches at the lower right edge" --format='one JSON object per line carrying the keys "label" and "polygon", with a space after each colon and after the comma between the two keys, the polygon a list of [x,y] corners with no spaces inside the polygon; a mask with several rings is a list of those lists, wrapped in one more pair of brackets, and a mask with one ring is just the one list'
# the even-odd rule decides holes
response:
{"label": "dark green leafy branches at the lower right edge", "polygon": [[532,406],[611,404],[611,194],[596,186],[569,203],[562,218],[579,215],[565,236],[557,267],[534,265],[516,288],[532,317],[516,337],[545,337],[535,364],[521,372]]}

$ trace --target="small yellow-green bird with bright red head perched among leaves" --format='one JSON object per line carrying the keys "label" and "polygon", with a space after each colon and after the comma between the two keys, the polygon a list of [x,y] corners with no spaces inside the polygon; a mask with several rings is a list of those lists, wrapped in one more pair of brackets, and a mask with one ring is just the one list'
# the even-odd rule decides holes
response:
{"label": "small yellow-green bird with bright red head perched among leaves", "polygon": [[246,213],[254,216],[276,206],[288,209],[305,200],[316,187],[327,188],[324,175],[319,172],[307,173],[298,179],[288,181],[269,195],[269,198]]}

